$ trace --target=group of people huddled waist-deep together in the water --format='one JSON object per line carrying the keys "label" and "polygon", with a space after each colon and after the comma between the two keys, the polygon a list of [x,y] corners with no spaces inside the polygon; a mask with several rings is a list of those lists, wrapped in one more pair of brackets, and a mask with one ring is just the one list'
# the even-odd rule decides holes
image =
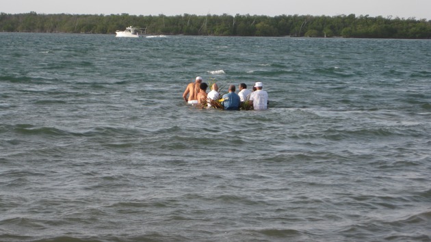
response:
{"label": "group of people huddled waist-deep together in the water", "polygon": [[250,109],[265,110],[269,104],[268,94],[263,89],[263,84],[258,81],[254,83],[252,90],[247,89],[246,83],[240,83],[239,92],[235,92],[235,85],[229,85],[228,93],[220,98],[217,83],[213,83],[211,92],[207,93],[208,84],[203,82],[202,77],[196,77],[195,81],[189,83],[183,93],[184,100],[191,105],[200,107],[220,107],[225,110],[239,110],[247,103]]}

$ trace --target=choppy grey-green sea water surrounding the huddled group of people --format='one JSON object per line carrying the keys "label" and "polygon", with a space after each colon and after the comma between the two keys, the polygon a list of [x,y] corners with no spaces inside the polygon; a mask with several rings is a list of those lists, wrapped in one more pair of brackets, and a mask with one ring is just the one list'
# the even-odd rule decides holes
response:
{"label": "choppy grey-green sea water surrounding the huddled group of people", "polygon": [[431,241],[430,40],[153,37],[0,33],[0,241]]}

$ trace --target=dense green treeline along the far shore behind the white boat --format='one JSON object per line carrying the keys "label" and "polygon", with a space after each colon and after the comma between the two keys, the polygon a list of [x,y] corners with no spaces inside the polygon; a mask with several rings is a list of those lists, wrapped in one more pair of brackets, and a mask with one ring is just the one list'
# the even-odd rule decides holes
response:
{"label": "dense green treeline along the far shore behind the white boat", "polygon": [[431,38],[431,21],[415,18],[339,16],[250,16],[183,14],[0,14],[0,31],[42,33],[115,33],[133,25],[146,34],[189,36],[293,36],[344,38]]}

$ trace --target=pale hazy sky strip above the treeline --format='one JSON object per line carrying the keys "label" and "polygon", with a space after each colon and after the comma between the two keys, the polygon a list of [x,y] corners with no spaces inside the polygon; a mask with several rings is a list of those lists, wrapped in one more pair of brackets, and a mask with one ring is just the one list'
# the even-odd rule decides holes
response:
{"label": "pale hazy sky strip above the treeline", "polygon": [[250,14],[276,16],[356,14],[415,17],[431,20],[431,0],[0,0],[0,12],[8,14]]}

